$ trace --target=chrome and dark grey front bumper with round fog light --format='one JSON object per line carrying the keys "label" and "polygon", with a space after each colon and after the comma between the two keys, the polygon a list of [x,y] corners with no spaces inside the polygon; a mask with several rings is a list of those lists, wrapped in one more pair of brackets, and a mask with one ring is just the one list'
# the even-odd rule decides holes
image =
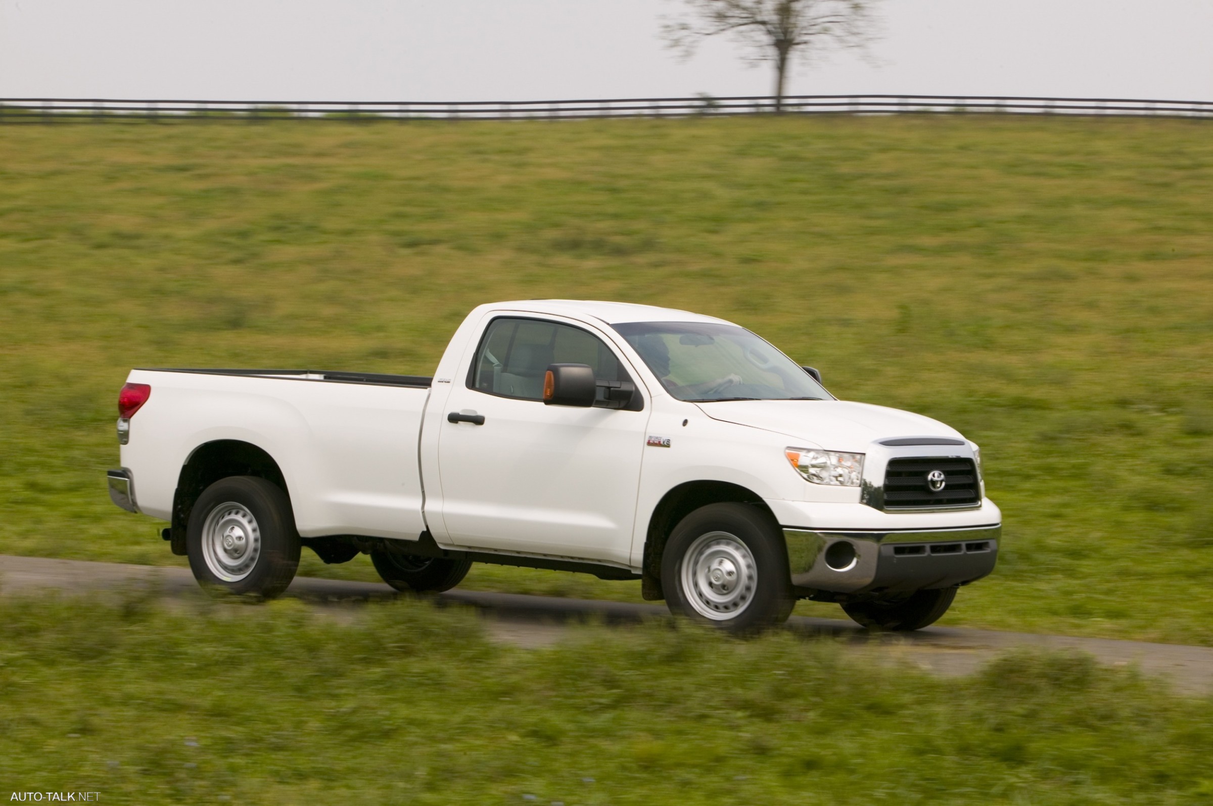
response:
{"label": "chrome and dark grey front bumper with round fog light", "polygon": [[1002,525],[945,530],[785,528],[792,584],[841,594],[951,588],[987,576]]}

